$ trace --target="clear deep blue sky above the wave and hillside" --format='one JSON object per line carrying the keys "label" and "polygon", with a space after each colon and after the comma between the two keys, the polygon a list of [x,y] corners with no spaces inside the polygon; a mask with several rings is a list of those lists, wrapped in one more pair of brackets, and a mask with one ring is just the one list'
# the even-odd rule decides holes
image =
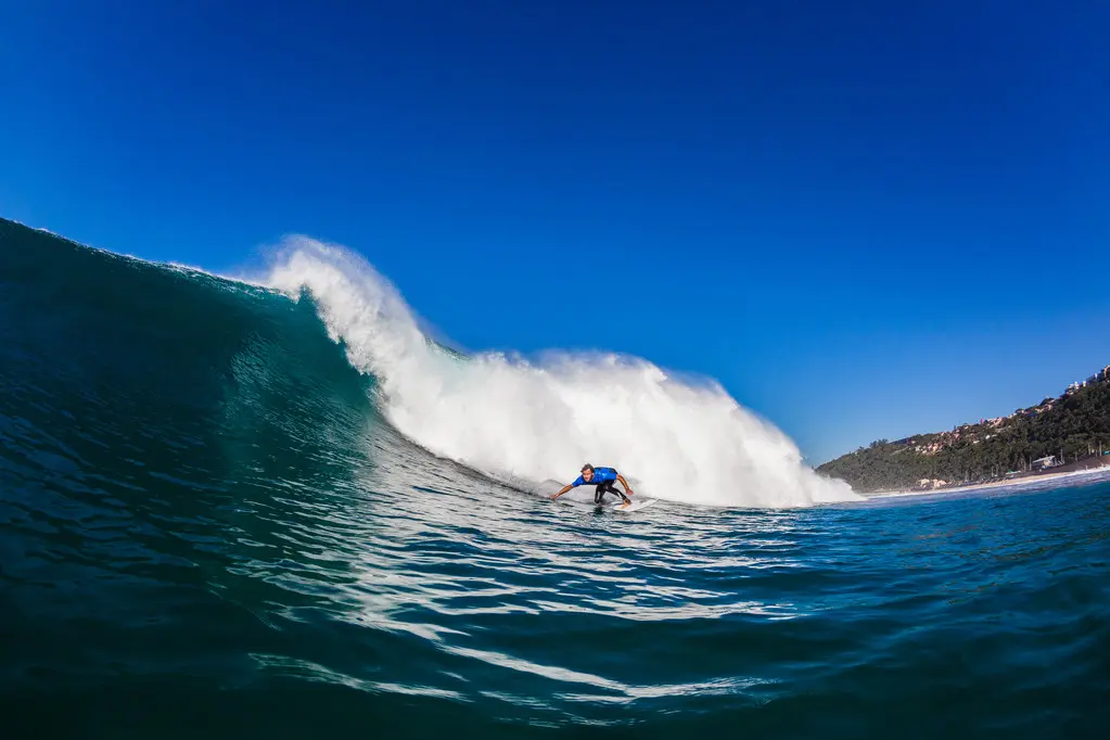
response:
{"label": "clear deep blue sky above the wave and hillside", "polygon": [[363,252],[468,348],[718,378],[820,462],[1110,363],[1110,3],[0,1],[0,215]]}

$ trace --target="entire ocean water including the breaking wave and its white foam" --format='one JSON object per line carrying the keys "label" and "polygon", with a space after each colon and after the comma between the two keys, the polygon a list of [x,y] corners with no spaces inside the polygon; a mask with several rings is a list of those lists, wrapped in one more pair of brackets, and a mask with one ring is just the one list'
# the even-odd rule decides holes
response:
{"label": "entire ocean water including the breaking wave and its white foam", "polygon": [[[658,500],[542,496],[585,459]],[[861,500],[712,383],[461,357],[337,247],[0,221],[4,737],[1101,738],[1108,531],[1106,481]]]}

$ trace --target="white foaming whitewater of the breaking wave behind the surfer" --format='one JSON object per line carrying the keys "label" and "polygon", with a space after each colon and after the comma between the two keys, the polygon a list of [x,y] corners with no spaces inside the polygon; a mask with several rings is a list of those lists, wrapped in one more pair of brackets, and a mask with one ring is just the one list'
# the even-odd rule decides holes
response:
{"label": "white foaming whitewater of the breaking wave behind the surfer", "polygon": [[266,283],[294,297],[311,292],[352,365],[379,379],[382,412],[402,434],[478,470],[538,489],[592,462],[619,469],[637,495],[714,506],[858,498],[805,467],[786,435],[718,385],[613,355],[460,359],[428,342],[389,281],[345,249],[286,240]]}

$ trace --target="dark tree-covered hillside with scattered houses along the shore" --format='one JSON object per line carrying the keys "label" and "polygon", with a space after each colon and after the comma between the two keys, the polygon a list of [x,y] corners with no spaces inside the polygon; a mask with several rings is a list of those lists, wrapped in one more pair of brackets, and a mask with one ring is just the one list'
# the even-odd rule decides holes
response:
{"label": "dark tree-covered hillside with scattered houses along the shore", "polygon": [[1067,462],[1097,455],[1100,448],[1110,450],[1108,375],[1103,369],[1059,398],[1010,416],[897,442],[879,439],[817,470],[872,491],[914,488],[926,479],[982,481],[1028,470],[1049,455]]}

